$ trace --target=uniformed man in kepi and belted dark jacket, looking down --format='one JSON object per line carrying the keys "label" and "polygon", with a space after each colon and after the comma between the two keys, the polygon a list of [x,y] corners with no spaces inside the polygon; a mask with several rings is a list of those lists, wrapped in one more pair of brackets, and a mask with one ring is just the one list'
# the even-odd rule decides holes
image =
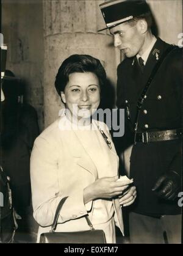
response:
{"label": "uniformed man in kepi and belted dark jacket, looking down", "polygon": [[181,243],[182,50],[152,34],[146,1],[109,1],[100,8],[105,29],[126,55],[117,70],[117,106],[126,109],[118,144],[124,152],[133,145],[130,176],[137,200],[129,215],[131,243]]}

